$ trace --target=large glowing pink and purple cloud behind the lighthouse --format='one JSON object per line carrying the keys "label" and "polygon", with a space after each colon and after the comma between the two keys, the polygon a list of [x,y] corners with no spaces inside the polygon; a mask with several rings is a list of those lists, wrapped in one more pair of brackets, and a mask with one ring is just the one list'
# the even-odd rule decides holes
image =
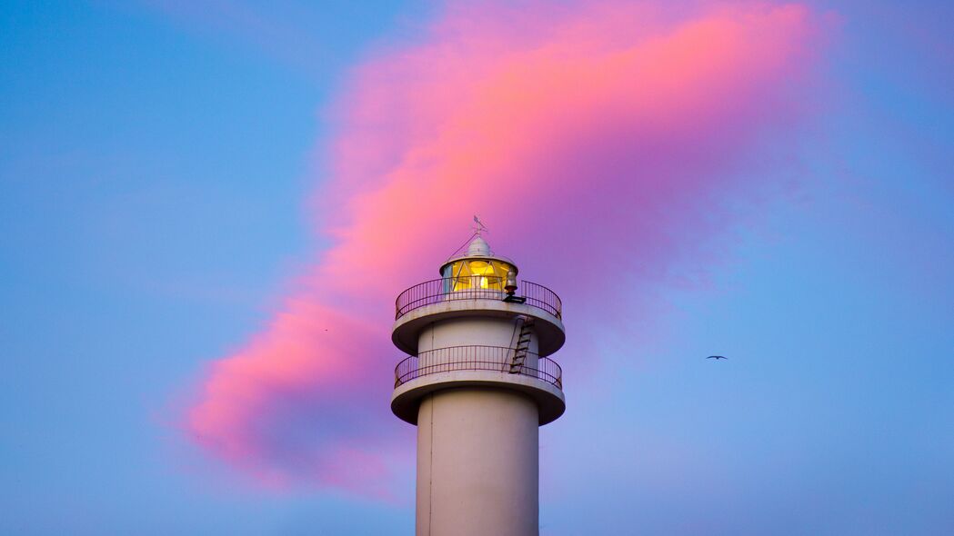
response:
{"label": "large glowing pink and purple cloud behind the lighthouse", "polygon": [[803,113],[819,29],[799,5],[668,5],[450,7],[360,65],[313,203],[334,246],[209,367],[191,437],[267,482],[386,494],[413,460],[387,403],[393,300],[436,277],[470,215],[580,331],[597,268],[638,284],[722,229],[703,209],[757,188],[740,171]]}

